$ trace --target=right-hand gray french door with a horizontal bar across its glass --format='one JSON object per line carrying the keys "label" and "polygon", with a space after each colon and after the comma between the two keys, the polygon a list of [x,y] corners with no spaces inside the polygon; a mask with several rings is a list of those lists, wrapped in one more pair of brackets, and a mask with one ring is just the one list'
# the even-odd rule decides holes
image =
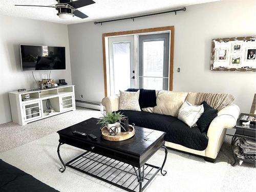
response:
{"label": "right-hand gray french door with a horizontal bar across its glass", "polygon": [[139,35],[139,88],[168,90],[169,33]]}

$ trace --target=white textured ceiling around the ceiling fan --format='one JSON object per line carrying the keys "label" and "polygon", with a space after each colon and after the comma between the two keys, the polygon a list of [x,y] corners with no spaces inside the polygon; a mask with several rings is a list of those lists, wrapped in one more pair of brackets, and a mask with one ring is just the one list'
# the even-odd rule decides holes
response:
{"label": "white textured ceiling around the ceiling fan", "polygon": [[[74,1],[74,0],[73,0]],[[0,14],[25,17],[38,20],[46,20],[48,22],[74,24],[80,22],[88,22],[92,20],[102,20],[106,18],[120,17],[125,15],[141,14],[146,12],[155,12],[160,10],[168,10],[188,5],[195,5],[208,2],[216,2],[221,0],[94,0],[96,3],[79,8],[89,17],[81,19],[73,17],[70,20],[63,20],[56,15],[54,8],[45,7],[17,7],[15,4],[21,5],[53,5],[55,0],[0,0]]]}

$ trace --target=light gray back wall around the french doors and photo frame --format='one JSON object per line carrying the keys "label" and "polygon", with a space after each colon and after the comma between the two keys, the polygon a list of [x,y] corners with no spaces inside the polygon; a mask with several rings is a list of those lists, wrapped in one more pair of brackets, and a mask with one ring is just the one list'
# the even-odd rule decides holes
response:
{"label": "light gray back wall around the french doors and photo frame", "polygon": [[[72,80],[76,97],[104,97],[101,34],[175,26],[174,91],[230,93],[242,112],[249,112],[255,93],[255,73],[210,71],[211,39],[256,35],[256,1],[221,1],[188,6],[186,12],[163,14],[101,25],[68,26]],[[180,67],[181,73],[176,69]]]}

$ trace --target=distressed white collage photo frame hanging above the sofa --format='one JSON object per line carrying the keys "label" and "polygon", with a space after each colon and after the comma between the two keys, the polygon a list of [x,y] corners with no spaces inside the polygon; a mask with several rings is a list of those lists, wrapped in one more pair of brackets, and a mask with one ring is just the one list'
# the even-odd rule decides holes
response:
{"label": "distressed white collage photo frame hanging above the sofa", "polygon": [[214,71],[256,71],[256,36],[212,40],[210,67]]}

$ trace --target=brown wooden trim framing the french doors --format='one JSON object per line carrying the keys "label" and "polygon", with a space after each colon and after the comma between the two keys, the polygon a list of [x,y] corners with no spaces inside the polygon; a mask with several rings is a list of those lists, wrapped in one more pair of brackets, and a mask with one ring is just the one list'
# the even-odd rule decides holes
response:
{"label": "brown wooden trim framing the french doors", "polygon": [[102,34],[102,50],[103,50],[103,74],[104,74],[104,93],[105,97],[107,96],[107,82],[106,82],[106,53],[105,53],[105,37],[111,36],[121,36],[121,35],[132,35],[140,33],[151,33],[151,32],[160,32],[160,31],[170,31],[170,48],[169,48],[169,91],[173,90],[173,73],[174,73],[174,26],[167,27],[157,27],[157,28],[148,28],[148,29],[138,29],[131,31],[120,31],[112,33],[103,33]]}

